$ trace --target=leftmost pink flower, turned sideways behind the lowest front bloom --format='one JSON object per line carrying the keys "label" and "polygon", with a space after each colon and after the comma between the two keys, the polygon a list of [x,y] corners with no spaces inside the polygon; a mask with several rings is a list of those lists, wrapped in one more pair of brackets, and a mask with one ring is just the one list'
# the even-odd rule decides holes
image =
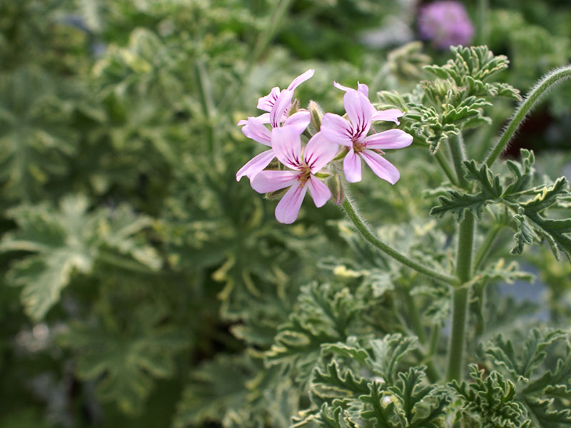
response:
{"label": "leftmost pink flower, turned sideways behind the lowest front bloom", "polygon": [[[268,95],[261,97],[258,100],[258,108],[268,111],[268,113],[239,121],[238,126],[243,125],[242,133],[253,141],[270,147],[272,146],[272,134],[270,130],[266,128],[265,123],[270,123],[272,128],[278,128],[283,122],[283,126],[291,126],[301,135],[309,125],[310,113],[302,110],[288,116],[291,108],[291,99],[293,98],[295,88],[313,76],[313,73],[313,68],[311,68],[293,79],[287,89],[280,91],[280,88],[276,86],[272,88]],[[263,151],[257,156],[254,156],[246,165],[243,165],[243,167],[238,170],[236,180],[240,181],[244,175],[251,180],[254,175],[266,168],[275,157],[272,149]]]}

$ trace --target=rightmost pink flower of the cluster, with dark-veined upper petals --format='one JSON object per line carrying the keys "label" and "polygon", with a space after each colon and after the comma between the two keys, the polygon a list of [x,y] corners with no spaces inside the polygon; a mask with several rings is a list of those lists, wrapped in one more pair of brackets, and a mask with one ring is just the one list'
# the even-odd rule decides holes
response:
{"label": "rightmost pink flower of the cluster, with dark-veined upper petals", "polygon": [[343,159],[343,172],[349,183],[361,180],[361,159],[369,165],[373,173],[378,177],[395,184],[400,178],[397,168],[387,161],[380,149],[403,148],[413,143],[413,136],[400,129],[373,133],[368,136],[373,121],[393,121],[398,123],[398,118],[403,112],[395,108],[385,111],[377,111],[370,103],[368,87],[362,83],[358,90],[346,88],[334,83],[337,88],[345,91],[343,105],[349,120],[333,113],[326,113],[321,120],[320,133],[330,143],[341,144],[349,148],[349,152]]}

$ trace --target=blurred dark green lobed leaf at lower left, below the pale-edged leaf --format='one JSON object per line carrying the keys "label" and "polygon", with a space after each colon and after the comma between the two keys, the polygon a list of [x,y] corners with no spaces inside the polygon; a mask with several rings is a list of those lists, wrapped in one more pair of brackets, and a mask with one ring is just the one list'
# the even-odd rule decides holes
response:
{"label": "blurred dark green lobed leaf at lower left, below the pale-edged leaf", "polygon": [[153,387],[153,378],[174,373],[174,357],[187,347],[185,335],[164,322],[156,306],[141,307],[124,327],[112,318],[106,324],[74,322],[59,337],[61,346],[74,350],[76,373],[96,380],[104,402],[116,402],[128,414],[137,414]]}

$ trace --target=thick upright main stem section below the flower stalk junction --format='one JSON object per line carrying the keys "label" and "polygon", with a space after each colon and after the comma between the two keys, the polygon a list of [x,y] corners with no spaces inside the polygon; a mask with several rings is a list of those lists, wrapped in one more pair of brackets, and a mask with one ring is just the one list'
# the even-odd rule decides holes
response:
{"label": "thick upright main stem section below the flower stalk junction", "polygon": [[464,367],[465,329],[468,318],[468,287],[455,287],[452,290],[452,332],[448,347],[448,370],[446,380],[462,380]]}

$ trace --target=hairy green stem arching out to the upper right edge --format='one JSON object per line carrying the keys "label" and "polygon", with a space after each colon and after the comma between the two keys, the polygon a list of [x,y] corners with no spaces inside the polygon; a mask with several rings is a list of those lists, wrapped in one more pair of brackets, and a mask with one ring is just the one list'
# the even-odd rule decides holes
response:
{"label": "hairy green stem arching out to the upper right edge", "polygon": [[507,128],[505,128],[505,131],[502,133],[500,138],[497,140],[497,143],[491,151],[490,155],[487,156],[485,161],[487,166],[492,166],[492,163],[494,163],[497,157],[500,156],[500,153],[504,151],[505,147],[508,143],[510,143],[510,140],[514,136],[515,131],[517,131],[517,128],[520,127],[523,120],[525,119],[525,116],[527,116],[527,113],[530,113],[532,108],[535,106],[535,103],[539,101],[541,96],[550,88],[557,85],[557,83],[561,83],[570,77],[571,66],[557,68],[556,70],[547,74],[547,76],[542,78],[542,80],[540,80],[532,88],[525,100],[520,103],[519,108],[517,108],[517,111],[512,116],[512,120],[507,125]]}

